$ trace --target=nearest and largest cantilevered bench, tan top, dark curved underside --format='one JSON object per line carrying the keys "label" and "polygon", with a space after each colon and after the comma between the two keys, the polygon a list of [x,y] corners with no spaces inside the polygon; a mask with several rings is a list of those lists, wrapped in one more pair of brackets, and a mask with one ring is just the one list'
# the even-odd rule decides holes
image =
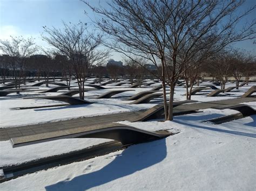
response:
{"label": "nearest and largest cantilevered bench, tan top, dark curved underside", "polygon": [[[121,142],[124,146],[165,138],[172,135],[168,131],[145,131],[123,124],[102,124],[59,131],[39,133],[36,135],[11,138],[12,147],[49,142],[67,138],[105,138]],[[54,145],[53,145],[54,146]]]}

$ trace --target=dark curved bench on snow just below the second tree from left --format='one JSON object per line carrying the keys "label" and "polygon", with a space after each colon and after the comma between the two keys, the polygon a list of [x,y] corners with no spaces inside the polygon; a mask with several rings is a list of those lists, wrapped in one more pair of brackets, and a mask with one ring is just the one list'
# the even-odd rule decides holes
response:
{"label": "dark curved bench on snow just below the second tree from left", "polygon": [[80,104],[89,104],[92,102],[86,100],[80,100],[79,98],[70,97],[66,95],[58,95],[58,96],[38,96],[38,97],[25,97],[23,99],[45,99],[45,100],[55,100],[69,103],[70,105],[80,105]]}

